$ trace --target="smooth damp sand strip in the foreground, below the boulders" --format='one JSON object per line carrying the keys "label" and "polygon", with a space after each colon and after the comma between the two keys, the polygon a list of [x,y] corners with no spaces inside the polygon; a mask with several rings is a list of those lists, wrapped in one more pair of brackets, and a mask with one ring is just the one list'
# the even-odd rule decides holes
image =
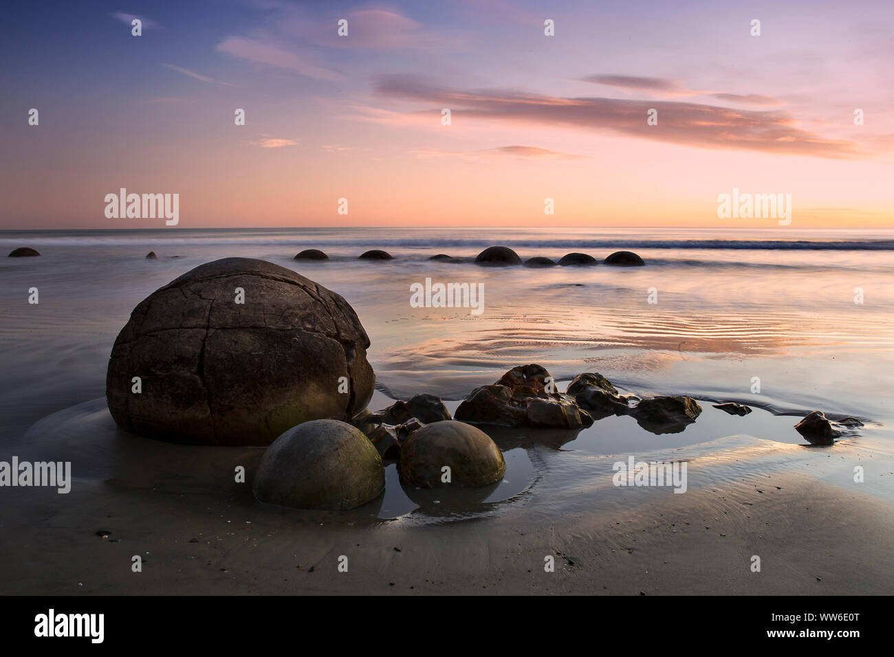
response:
{"label": "smooth damp sand strip in the foreground, below the boulders", "polygon": [[4,519],[0,561],[15,568],[2,593],[890,594],[889,504],[794,474],[760,485],[657,495],[597,517],[532,500],[486,520],[362,526],[262,515],[240,496],[97,484],[65,508],[44,495]]}

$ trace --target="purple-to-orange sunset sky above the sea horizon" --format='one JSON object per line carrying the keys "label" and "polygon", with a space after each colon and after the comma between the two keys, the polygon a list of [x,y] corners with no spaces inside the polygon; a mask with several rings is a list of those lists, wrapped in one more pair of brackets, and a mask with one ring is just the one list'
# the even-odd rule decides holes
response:
{"label": "purple-to-orange sunset sky above the sea horizon", "polygon": [[734,189],[894,227],[892,35],[889,0],[9,4],[0,229],[164,227],[121,188],[171,230],[778,225]]}

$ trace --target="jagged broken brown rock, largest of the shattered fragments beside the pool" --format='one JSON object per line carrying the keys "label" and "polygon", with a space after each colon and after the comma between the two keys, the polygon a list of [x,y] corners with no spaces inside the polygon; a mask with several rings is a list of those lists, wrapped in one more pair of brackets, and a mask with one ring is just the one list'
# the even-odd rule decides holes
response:
{"label": "jagged broken brown rock, largest of the shattered fragments beside the pool", "polygon": [[555,383],[539,365],[518,366],[493,385],[469,393],[453,414],[458,420],[502,426],[554,426],[579,429],[593,424],[573,397],[555,392]]}

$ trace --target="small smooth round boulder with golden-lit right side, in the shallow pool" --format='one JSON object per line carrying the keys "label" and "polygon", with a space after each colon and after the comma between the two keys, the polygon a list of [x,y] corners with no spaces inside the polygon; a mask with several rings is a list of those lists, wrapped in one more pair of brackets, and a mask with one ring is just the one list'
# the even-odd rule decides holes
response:
{"label": "small smooth round boulder with golden-lit right side, in the shallow pool", "polygon": [[[444,466],[451,481],[442,481]],[[401,445],[398,473],[404,484],[420,488],[493,484],[506,474],[506,461],[490,436],[475,426],[445,420],[417,429]]]}

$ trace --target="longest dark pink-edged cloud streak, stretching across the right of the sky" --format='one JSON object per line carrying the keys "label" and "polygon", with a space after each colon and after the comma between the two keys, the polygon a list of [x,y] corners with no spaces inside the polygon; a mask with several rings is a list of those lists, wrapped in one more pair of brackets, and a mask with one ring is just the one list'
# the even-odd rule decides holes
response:
{"label": "longest dark pink-edged cloud streak, stretching across the right of the sky", "polygon": [[[679,101],[553,97],[511,89],[465,91],[434,87],[407,76],[384,76],[378,80],[375,91],[384,97],[450,107],[454,118],[463,115],[480,120],[606,131],[698,148],[835,159],[866,155],[854,141],[827,139],[799,128],[797,121],[784,112]],[[650,109],[658,111],[657,125],[646,123]]]}

